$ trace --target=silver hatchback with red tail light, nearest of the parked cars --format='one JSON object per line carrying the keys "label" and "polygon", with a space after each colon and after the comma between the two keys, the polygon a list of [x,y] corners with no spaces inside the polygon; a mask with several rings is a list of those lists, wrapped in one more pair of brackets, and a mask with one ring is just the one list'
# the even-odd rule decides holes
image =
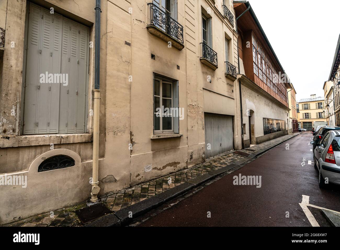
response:
{"label": "silver hatchback with red tail light, nearest of the parked cars", "polygon": [[319,169],[319,186],[325,187],[327,183],[340,185],[340,131],[327,132],[313,153],[314,167]]}

